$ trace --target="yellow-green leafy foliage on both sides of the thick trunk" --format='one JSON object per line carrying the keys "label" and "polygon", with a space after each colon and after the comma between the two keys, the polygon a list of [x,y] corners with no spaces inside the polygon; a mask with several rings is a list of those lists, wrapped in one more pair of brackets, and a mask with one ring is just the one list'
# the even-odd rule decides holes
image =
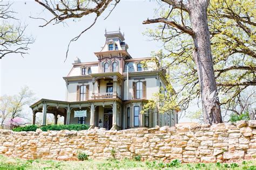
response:
{"label": "yellow-green leafy foliage on both sides of the thick trunk", "polygon": [[[235,101],[239,100],[243,91],[256,85],[255,9],[255,3],[251,0],[212,0],[208,6],[215,78],[221,108],[225,112],[235,107]],[[181,11],[174,10],[163,7],[159,15],[181,22],[177,18]],[[183,13],[181,25],[183,23],[190,26],[187,13]],[[160,24],[156,30],[148,30],[146,35],[164,44],[164,48],[153,55],[161,60],[162,68],[170,73],[170,81],[180,87],[173,94],[179,98],[177,104],[180,109],[187,110],[194,100],[200,103],[200,83],[193,58],[192,38],[166,23]]]}

